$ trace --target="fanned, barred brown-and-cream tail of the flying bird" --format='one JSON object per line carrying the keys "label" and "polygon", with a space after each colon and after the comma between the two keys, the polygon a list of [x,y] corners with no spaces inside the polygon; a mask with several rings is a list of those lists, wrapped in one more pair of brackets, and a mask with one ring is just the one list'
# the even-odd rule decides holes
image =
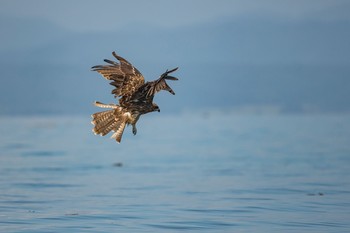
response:
{"label": "fanned, barred brown-and-cream tail of the flying bird", "polygon": [[[102,103],[95,103],[95,105],[98,107],[108,106]],[[126,118],[123,116],[123,109],[120,106],[114,105],[108,107],[113,107],[114,109],[97,112],[91,115],[91,123],[94,125],[92,131],[95,134],[105,136],[113,130],[115,133],[112,135],[112,138],[120,143],[127,124]]]}

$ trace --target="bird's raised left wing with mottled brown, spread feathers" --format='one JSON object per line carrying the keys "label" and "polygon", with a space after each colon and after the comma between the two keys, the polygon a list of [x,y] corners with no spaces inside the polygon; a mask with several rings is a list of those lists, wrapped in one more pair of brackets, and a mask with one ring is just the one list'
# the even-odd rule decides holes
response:
{"label": "bird's raised left wing with mottled brown, spread feathers", "polygon": [[109,65],[93,66],[91,69],[100,73],[105,79],[111,80],[111,85],[115,86],[112,94],[115,97],[131,96],[140,86],[145,83],[145,79],[130,62],[118,56],[115,52],[112,55],[119,63],[105,59]]}

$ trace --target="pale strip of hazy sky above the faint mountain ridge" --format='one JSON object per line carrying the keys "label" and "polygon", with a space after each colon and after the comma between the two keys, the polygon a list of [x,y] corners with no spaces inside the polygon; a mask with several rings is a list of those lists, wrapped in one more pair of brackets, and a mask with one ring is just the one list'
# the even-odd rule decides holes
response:
{"label": "pale strip of hazy sky above the faint mountain ridge", "polygon": [[287,21],[350,20],[348,0],[2,0],[0,15],[49,20],[74,31],[133,23],[181,27],[224,17]]}

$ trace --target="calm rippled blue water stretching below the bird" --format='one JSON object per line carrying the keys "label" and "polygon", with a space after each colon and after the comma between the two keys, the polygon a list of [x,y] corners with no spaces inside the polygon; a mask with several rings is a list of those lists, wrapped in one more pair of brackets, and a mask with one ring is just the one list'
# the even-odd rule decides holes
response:
{"label": "calm rippled blue water stretching below the bird", "polygon": [[350,116],[0,118],[0,232],[350,232]]}

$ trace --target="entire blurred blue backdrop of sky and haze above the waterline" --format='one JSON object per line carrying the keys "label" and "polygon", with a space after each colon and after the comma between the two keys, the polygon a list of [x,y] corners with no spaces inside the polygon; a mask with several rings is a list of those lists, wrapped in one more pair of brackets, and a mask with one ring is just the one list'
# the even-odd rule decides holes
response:
{"label": "entire blurred blue backdrop of sky and haze above the waterline", "polygon": [[114,100],[90,71],[113,50],[146,80],[180,67],[164,112],[350,112],[350,0],[0,0],[0,31],[0,114]]}

